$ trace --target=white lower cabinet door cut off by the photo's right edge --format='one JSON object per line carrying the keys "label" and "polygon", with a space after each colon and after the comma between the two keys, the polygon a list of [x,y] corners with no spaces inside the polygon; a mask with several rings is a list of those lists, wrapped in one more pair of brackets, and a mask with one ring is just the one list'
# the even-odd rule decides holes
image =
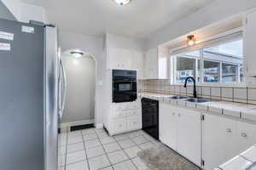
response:
{"label": "white lower cabinet door cut off by the photo's right edge", "polygon": [[256,125],[246,122],[238,122],[237,125],[237,140],[238,153],[247,150],[256,144]]}

